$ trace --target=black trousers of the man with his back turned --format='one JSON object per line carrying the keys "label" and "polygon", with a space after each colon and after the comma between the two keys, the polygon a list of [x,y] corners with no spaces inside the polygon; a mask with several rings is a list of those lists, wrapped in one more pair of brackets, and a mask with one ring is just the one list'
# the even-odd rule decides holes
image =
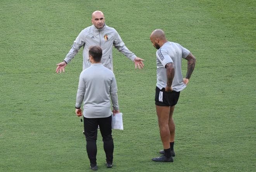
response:
{"label": "black trousers of the man with his back turned", "polygon": [[85,118],[83,117],[85,138],[86,138],[86,151],[90,160],[91,166],[96,165],[97,155],[97,132],[98,125],[100,127],[100,133],[104,145],[104,151],[106,153],[106,162],[112,164],[113,162],[113,151],[114,142],[112,138],[112,116],[106,118]]}

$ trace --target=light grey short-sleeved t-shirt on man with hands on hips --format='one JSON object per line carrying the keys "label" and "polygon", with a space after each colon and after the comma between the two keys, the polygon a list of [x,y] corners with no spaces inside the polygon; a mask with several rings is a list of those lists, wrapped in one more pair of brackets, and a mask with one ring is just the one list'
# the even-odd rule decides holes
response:
{"label": "light grey short-sleeved t-shirt on man with hands on hips", "polygon": [[174,64],[174,78],[171,87],[174,91],[183,90],[186,85],[183,83],[183,76],[181,70],[182,58],[186,58],[190,51],[181,46],[178,43],[166,42],[161,48],[156,52],[156,76],[157,83],[156,86],[159,89],[165,88],[167,85],[167,74],[165,65],[168,63]]}

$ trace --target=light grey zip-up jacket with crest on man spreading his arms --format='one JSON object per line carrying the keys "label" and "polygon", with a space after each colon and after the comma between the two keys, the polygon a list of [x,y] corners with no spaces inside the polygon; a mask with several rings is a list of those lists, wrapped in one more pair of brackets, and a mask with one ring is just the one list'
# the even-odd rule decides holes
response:
{"label": "light grey zip-up jacket with crest on man spreading his arms", "polygon": [[116,29],[111,28],[105,24],[102,29],[97,29],[94,25],[83,29],[74,44],[72,45],[69,53],[67,53],[64,59],[68,64],[74,56],[78,53],[79,49],[83,46],[83,70],[90,67],[91,63],[89,60],[89,48],[90,46],[100,46],[102,48],[101,63],[108,69],[113,71],[113,60],[112,60],[112,46],[118,49],[119,52],[123,53],[127,58],[134,61],[137,57],[132,53],[126,46],[121,37],[119,36]]}

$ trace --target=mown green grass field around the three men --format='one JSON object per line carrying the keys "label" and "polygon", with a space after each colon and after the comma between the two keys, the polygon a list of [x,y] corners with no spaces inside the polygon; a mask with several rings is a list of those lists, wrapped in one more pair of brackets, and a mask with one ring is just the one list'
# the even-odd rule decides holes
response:
{"label": "mown green grass field around the three men", "polygon": [[[256,2],[252,0],[0,0],[0,171],[89,171],[83,124],[74,113],[82,53],[56,74],[91,14],[102,10],[143,70],[114,50],[123,131],[113,131],[114,167],[100,171],[255,171]],[[162,149],[154,89],[157,28],[197,64],[175,108],[173,163]],[[183,60],[183,75],[186,74]]]}

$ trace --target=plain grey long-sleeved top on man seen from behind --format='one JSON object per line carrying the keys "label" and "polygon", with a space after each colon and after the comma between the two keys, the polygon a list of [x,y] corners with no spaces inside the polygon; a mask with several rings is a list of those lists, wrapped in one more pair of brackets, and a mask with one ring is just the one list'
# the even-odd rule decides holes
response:
{"label": "plain grey long-sleeved top on man seen from behind", "polygon": [[92,64],[80,74],[76,95],[76,107],[83,105],[86,118],[104,118],[111,115],[111,101],[119,109],[114,73],[100,63]]}

